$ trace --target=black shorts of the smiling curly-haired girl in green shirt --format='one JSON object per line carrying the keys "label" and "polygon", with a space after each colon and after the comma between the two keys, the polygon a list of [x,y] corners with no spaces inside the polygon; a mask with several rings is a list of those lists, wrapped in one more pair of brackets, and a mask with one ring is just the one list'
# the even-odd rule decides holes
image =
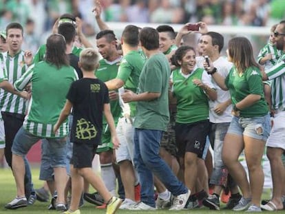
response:
{"label": "black shorts of the smiling curly-haired girl in green shirt", "polygon": [[184,158],[185,152],[192,152],[196,153],[198,158],[202,158],[209,127],[209,120],[187,124],[176,122],[178,157]]}

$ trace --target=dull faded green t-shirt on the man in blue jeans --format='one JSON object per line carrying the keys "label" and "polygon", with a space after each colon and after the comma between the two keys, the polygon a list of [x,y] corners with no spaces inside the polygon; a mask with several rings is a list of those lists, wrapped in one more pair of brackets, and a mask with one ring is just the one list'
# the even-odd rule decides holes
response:
{"label": "dull faded green t-shirt on the man in blue jeans", "polygon": [[164,54],[154,54],[147,59],[140,74],[138,93],[156,92],[160,97],[138,102],[134,127],[166,131],[169,122],[169,76],[170,67]]}

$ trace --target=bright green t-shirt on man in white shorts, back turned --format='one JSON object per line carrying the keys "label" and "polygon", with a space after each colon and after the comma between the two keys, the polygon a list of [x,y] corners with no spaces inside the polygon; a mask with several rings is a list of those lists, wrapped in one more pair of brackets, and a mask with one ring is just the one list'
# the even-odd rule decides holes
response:
{"label": "bright green t-shirt on man in white shorts, back turned", "polygon": [[[129,89],[135,93],[137,92],[140,72],[144,64],[145,58],[142,58],[142,55],[138,51],[130,51],[123,56],[116,78],[119,78],[125,83],[125,89]],[[136,115],[136,102],[129,103],[129,107],[131,110],[130,116],[134,117]]]}

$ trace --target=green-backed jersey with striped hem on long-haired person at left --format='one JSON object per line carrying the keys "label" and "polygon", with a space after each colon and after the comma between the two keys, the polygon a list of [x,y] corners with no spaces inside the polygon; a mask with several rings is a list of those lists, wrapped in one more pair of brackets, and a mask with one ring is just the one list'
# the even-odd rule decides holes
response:
{"label": "green-backed jersey with striped hem on long-haired person at left", "polygon": [[61,109],[65,105],[70,85],[78,79],[76,70],[70,66],[58,69],[45,61],[31,65],[27,72],[14,83],[21,91],[32,82],[32,97],[23,128],[42,138],[62,138],[68,133],[68,120],[63,122],[57,133],[52,131]]}

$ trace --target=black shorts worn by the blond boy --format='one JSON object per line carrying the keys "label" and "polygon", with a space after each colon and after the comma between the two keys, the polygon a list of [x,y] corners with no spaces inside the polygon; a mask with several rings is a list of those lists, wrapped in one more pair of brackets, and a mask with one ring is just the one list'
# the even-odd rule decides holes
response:
{"label": "black shorts worn by the blond boy", "polygon": [[98,145],[92,143],[74,142],[70,164],[73,164],[74,168],[92,167],[97,147]]}

